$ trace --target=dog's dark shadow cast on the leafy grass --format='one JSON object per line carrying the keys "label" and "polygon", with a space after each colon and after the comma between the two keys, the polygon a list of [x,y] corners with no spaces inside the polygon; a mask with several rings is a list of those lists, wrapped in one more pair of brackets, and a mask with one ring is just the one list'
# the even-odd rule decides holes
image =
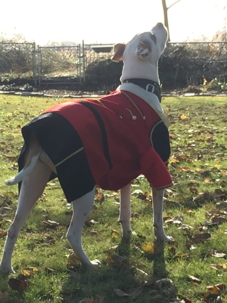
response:
{"label": "dog's dark shadow cast on the leafy grass", "polygon": [[[111,302],[112,300],[113,302],[121,302],[125,297],[119,298],[114,294],[114,289],[119,288],[130,294],[133,289],[142,287],[144,294],[150,291],[149,288],[144,286],[145,281],[156,281],[167,277],[163,243],[155,242],[154,254],[150,257],[146,256],[153,262],[153,269],[152,273],[143,276],[142,280],[136,274],[137,265],[132,266],[131,264],[129,258],[130,245],[133,245],[131,241],[121,241],[118,246],[118,253],[107,255],[101,266],[92,268],[78,266],[72,269],[74,273],[69,272],[69,278],[62,288],[64,302],[78,302],[83,298],[95,297],[96,295],[109,298]],[[111,298],[112,296],[113,298]]]}

